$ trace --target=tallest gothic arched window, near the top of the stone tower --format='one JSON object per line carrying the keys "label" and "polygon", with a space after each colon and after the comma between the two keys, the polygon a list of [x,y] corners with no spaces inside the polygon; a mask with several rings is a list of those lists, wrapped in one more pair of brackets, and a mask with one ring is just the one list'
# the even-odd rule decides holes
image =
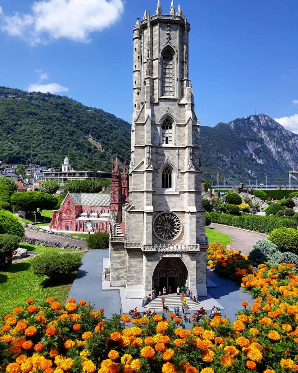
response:
{"label": "tallest gothic arched window, near the top of the stone tower", "polygon": [[168,47],[161,56],[161,95],[174,96],[174,51]]}

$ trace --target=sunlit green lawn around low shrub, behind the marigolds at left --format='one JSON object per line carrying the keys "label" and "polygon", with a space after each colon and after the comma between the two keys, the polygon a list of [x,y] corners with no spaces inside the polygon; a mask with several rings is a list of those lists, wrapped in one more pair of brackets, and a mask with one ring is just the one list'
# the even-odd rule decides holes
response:
{"label": "sunlit green lawn around low shrub, behind the marigolds at left", "polygon": [[[60,252],[65,250],[45,248],[34,245],[20,245],[28,250],[42,253],[47,251]],[[83,257],[83,253],[81,253]],[[12,264],[6,272],[0,272],[0,314],[11,313],[13,308],[24,305],[28,298],[34,300],[53,297],[64,303],[69,294],[71,283],[66,285],[51,285],[47,276],[37,276],[31,270],[31,260]],[[72,281],[71,281],[72,282]]]}

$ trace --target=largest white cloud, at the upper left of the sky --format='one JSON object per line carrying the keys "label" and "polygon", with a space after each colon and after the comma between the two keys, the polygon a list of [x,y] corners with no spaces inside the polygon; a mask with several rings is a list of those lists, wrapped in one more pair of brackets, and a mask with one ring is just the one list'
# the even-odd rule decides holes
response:
{"label": "largest white cloud, at the upper left of the sky", "polygon": [[34,45],[59,38],[86,43],[91,32],[110,27],[122,12],[123,0],[41,0],[29,14],[4,16],[0,10],[0,28]]}

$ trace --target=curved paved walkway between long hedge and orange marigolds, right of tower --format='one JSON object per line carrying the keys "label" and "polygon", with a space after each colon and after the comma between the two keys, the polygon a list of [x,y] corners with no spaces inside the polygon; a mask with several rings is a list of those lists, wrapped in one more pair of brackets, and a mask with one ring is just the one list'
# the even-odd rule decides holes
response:
{"label": "curved paved walkway between long hedge and orange marigolds, right of tower", "polygon": [[260,239],[267,239],[268,236],[263,233],[245,231],[235,227],[229,227],[222,224],[212,223],[208,228],[215,229],[218,232],[225,233],[232,238],[231,248],[241,250],[242,254],[249,254],[253,245]]}

